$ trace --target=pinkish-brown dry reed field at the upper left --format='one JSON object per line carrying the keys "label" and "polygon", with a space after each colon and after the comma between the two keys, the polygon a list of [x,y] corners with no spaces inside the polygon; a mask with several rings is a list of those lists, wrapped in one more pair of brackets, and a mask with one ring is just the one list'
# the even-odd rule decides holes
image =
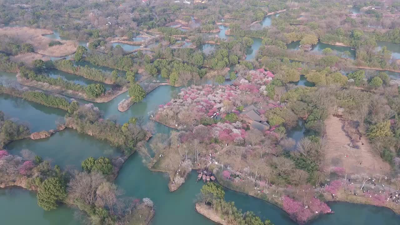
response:
{"label": "pinkish-brown dry reed field at the upper left", "polygon": [[20,43],[29,43],[34,47],[34,51],[46,56],[68,56],[73,54],[78,47],[77,41],[58,40],[63,45],[49,47],[48,44],[53,40],[42,35],[52,34],[51,30],[34,29],[28,27],[4,27],[0,29],[0,36],[6,35]]}

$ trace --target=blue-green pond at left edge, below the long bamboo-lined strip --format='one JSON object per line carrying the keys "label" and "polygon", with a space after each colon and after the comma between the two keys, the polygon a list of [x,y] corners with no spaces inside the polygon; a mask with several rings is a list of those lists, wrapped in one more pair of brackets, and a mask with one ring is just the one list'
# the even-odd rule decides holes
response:
{"label": "blue-green pond at left edge, below the long bamboo-lined strip", "polygon": [[30,127],[31,132],[56,129],[56,121],[64,121],[66,111],[28,102],[22,98],[0,94],[0,110],[7,117],[18,119]]}

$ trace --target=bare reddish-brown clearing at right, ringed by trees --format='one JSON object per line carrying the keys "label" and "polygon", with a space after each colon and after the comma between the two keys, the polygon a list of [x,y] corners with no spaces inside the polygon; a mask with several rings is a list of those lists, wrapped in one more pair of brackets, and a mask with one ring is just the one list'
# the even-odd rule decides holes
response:
{"label": "bare reddish-brown clearing at right, ringed by trees", "polygon": [[[388,174],[390,166],[378,154],[372,152],[366,137],[361,138],[359,149],[349,147],[350,138],[342,130],[342,122],[337,117],[325,121],[328,145],[326,148],[326,165],[343,167],[347,173]],[[362,145],[364,143],[364,145]],[[345,155],[347,157],[345,157]]]}

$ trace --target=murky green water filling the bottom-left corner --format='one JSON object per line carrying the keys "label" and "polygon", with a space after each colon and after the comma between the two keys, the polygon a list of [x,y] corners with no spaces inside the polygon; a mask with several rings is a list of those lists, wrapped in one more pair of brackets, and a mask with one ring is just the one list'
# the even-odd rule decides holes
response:
{"label": "murky green water filling the bottom-left corner", "polygon": [[0,189],[0,218],[3,225],[80,225],[74,209],[65,205],[44,211],[38,206],[36,193],[21,188]]}

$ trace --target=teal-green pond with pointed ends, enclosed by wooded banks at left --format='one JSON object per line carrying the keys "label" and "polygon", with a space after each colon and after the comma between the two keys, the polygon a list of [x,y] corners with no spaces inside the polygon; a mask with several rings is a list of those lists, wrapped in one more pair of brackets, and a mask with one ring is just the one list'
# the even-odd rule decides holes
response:
{"label": "teal-green pond with pointed ends, enclosed by wooded banks at left", "polygon": [[50,160],[52,166],[63,169],[81,168],[81,163],[88,157],[116,157],[120,152],[107,141],[99,141],[90,135],[79,134],[72,129],[65,129],[45,139],[22,139],[6,146],[13,155],[20,155],[22,149],[29,149],[43,159]]}

